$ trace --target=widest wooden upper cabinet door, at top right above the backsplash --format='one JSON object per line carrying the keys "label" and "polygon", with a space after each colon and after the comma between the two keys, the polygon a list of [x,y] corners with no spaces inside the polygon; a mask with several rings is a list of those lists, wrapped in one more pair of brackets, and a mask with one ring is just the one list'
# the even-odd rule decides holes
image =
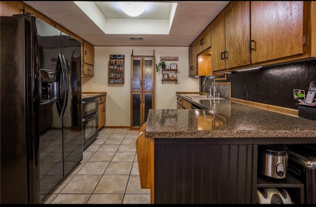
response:
{"label": "widest wooden upper cabinet door, at top right above the backsplash", "polygon": [[303,53],[304,1],[251,1],[251,63]]}

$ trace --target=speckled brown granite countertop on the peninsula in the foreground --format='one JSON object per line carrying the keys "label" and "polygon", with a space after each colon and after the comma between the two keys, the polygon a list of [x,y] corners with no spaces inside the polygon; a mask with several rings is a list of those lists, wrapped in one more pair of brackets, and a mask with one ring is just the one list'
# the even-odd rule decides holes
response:
{"label": "speckled brown granite countertop on the peninsula in the foreground", "polygon": [[195,102],[208,108],[150,109],[146,137],[268,138],[265,140],[270,140],[271,143],[276,142],[271,138],[282,138],[279,142],[295,138],[297,143],[300,140],[316,143],[314,120],[239,104],[230,99],[216,100],[218,103],[214,103],[214,100]]}

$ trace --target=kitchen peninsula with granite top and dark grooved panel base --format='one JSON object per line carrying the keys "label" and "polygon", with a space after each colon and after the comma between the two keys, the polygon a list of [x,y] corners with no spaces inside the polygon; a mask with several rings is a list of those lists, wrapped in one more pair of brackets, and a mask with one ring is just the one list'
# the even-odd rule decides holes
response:
{"label": "kitchen peninsula with granite top and dark grooved panel base", "polygon": [[[255,204],[258,145],[316,143],[316,121],[231,99],[194,102],[205,109],[149,111],[152,203]],[[302,183],[292,178],[279,182],[303,203]]]}

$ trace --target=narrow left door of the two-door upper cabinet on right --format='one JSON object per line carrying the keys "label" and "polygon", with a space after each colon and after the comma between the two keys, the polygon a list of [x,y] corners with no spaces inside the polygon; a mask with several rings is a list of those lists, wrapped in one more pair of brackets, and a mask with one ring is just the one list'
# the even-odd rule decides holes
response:
{"label": "narrow left door of the two-door upper cabinet on right", "polygon": [[225,10],[211,24],[212,71],[225,69]]}

